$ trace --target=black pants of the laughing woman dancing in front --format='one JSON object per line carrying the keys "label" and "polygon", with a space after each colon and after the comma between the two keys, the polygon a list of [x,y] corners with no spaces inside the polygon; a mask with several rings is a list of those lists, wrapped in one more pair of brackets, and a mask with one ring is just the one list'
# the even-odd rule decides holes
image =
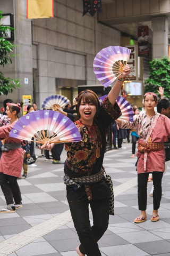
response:
{"label": "black pants of the laughing woman dancing in front", "polygon": [[[89,203],[93,216],[90,226]],[[72,201],[69,203],[74,227],[77,230],[80,252],[87,256],[101,256],[97,241],[104,235],[109,220],[109,198],[88,201]]]}

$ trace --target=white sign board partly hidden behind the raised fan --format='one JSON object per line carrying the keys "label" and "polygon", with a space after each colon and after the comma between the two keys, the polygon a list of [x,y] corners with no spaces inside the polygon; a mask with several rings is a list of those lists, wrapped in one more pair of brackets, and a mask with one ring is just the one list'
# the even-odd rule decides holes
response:
{"label": "white sign board partly hidden behind the raised fan", "polygon": [[136,80],[137,79],[137,70],[138,70],[138,61],[137,61],[137,46],[136,45],[129,45],[126,46],[131,50],[130,57],[128,60],[128,64],[131,69],[131,73],[129,74],[130,80]]}

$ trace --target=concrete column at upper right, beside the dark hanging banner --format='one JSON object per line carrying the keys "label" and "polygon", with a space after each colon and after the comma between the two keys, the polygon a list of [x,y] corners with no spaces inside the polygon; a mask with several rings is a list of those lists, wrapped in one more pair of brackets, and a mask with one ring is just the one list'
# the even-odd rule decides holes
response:
{"label": "concrete column at upper right, beside the dark hanging banner", "polygon": [[168,56],[168,20],[164,17],[152,18],[153,58]]}

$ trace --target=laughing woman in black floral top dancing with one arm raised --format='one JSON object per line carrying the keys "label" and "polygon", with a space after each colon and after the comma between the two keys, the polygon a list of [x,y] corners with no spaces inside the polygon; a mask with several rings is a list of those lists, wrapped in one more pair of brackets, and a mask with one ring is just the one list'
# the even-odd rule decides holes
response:
{"label": "laughing woman in black floral top dancing with one arm raised", "polygon": [[[79,256],[101,256],[97,241],[104,235],[108,226],[111,197],[103,176],[105,129],[121,115],[121,110],[115,102],[129,73],[129,65],[126,65],[122,77],[118,77],[103,105],[100,106],[96,93],[91,90],[80,92],[74,102],[78,114],[75,125],[80,131],[82,141],[65,144],[67,159],[64,165],[64,182],[72,219],[81,243],[77,247]],[[53,146],[53,143],[46,142],[40,148],[51,149]],[[93,175],[93,183],[86,182],[89,175]],[[78,178],[78,182],[75,178]],[[93,215],[92,227],[89,220],[89,204]]]}

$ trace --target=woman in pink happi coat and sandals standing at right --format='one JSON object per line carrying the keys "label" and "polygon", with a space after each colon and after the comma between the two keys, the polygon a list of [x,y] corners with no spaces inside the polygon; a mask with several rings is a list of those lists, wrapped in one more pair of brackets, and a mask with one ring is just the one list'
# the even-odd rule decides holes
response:
{"label": "woman in pink happi coat and sandals standing at right", "polygon": [[144,95],[146,113],[134,116],[133,122],[117,120],[118,125],[123,129],[135,129],[139,135],[137,152],[138,172],[138,205],[141,215],[134,220],[141,223],[147,220],[147,182],[148,175],[152,173],[154,184],[151,221],[158,221],[158,209],[162,198],[162,177],[165,171],[165,149],[164,143],[170,137],[170,119],[159,113],[155,113],[157,95],[148,92]]}

